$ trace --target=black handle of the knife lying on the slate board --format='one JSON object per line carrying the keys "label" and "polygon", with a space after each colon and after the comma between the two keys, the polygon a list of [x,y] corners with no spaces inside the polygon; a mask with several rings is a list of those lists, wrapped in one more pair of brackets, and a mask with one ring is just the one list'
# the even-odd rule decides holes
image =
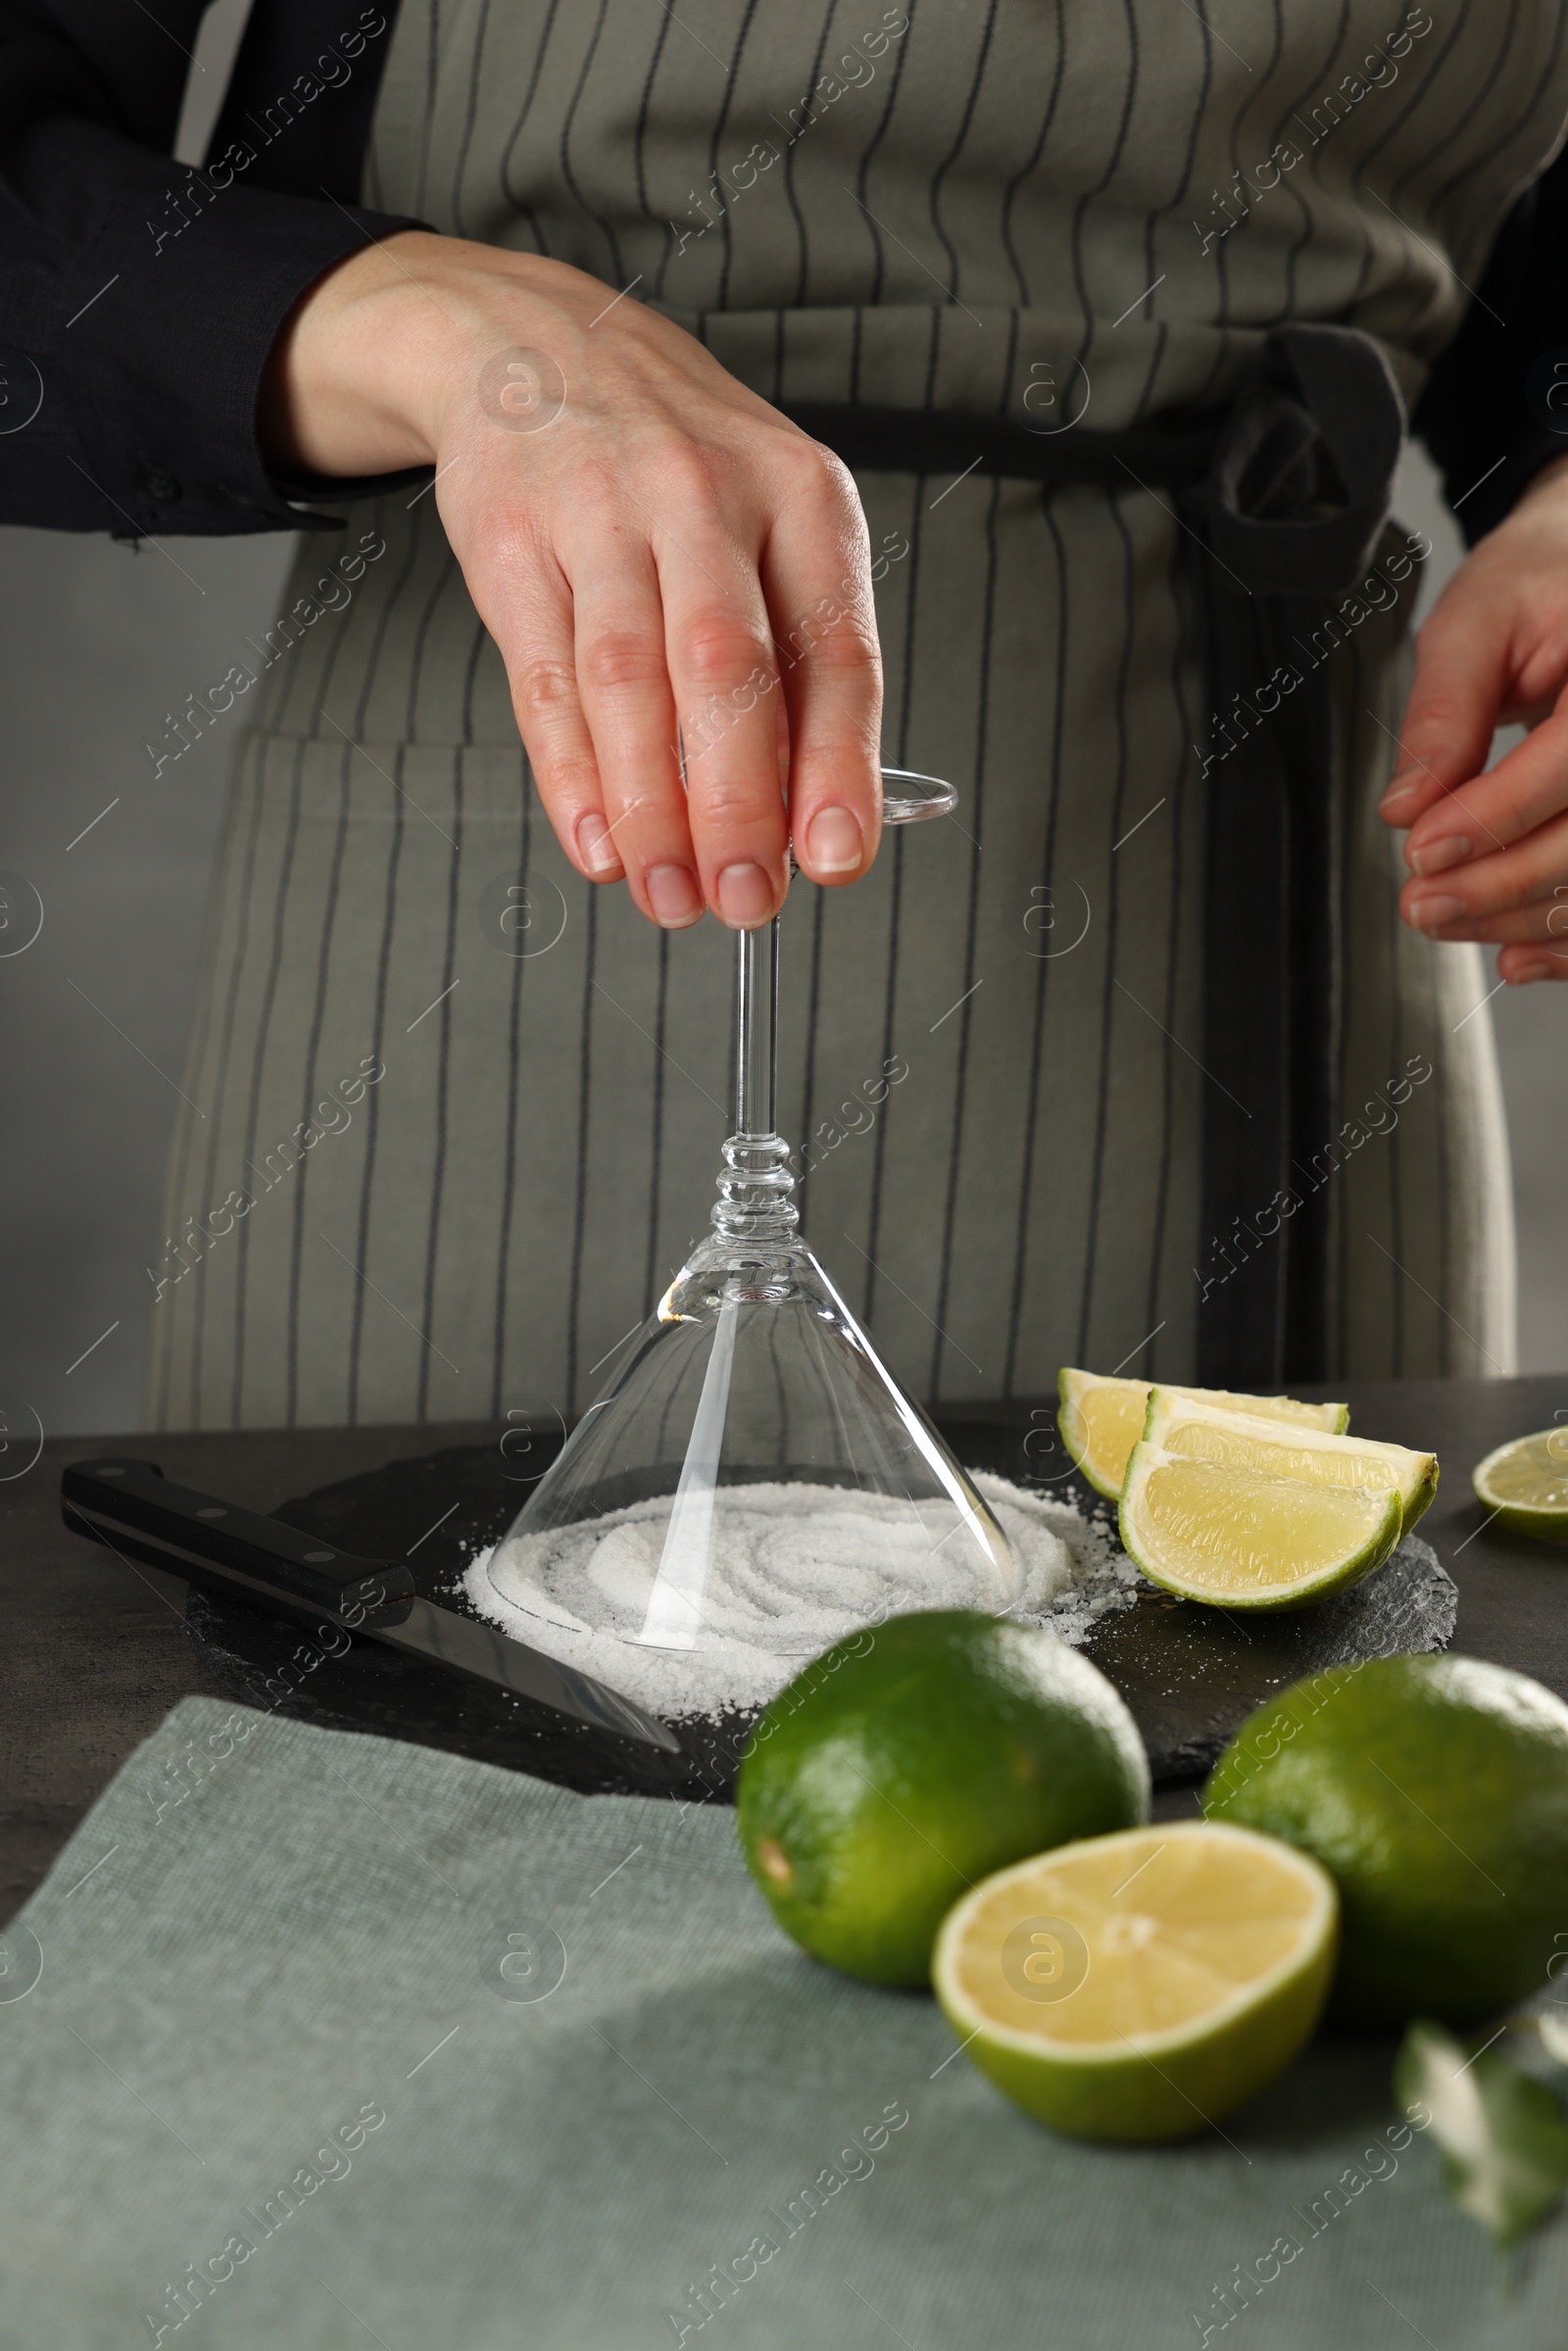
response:
{"label": "black handle of the knife lying on the slate board", "polygon": [[59,1486],[73,1533],[193,1585],[350,1629],[369,1617],[395,1625],[409,1613],[414,1578],[404,1561],[355,1559],[282,1519],[174,1486],[158,1462],[71,1462]]}

